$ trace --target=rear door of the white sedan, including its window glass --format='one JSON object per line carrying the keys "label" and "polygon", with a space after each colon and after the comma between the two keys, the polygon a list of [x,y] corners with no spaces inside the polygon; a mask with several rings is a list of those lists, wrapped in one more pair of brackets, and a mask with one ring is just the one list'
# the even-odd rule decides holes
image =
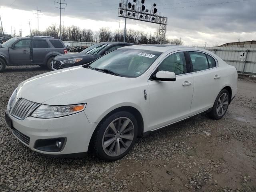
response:
{"label": "rear door of the white sedan, including its window glass", "polygon": [[212,56],[198,51],[188,53],[194,71],[194,93],[190,110],[192,116],[213,106],[220,92],[221,75],[220,68]]}

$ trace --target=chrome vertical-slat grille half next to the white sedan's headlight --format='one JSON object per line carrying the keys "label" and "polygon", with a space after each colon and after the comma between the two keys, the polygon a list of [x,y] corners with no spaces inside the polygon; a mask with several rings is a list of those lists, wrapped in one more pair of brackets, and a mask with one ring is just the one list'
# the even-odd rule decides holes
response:
{"label": "chrome vertical-slat grille half next to the white sedan's headlight", "polygon": [[24,120],[28,114],[33,112],[40,104],[26,100],[19,99],[11,110],[11,115],[19,120]]}

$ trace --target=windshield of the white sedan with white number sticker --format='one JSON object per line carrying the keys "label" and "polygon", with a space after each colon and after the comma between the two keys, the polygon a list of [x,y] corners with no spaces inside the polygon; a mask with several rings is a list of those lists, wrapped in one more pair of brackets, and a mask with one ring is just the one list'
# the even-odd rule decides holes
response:
{"label": "windshield of the white sedan with white number sticker", "polygon": [[161,54],[162,52],[149,50],[118,49],[92,62],[90,68],[108,70],[123,77],[138,77],[143,74]]}

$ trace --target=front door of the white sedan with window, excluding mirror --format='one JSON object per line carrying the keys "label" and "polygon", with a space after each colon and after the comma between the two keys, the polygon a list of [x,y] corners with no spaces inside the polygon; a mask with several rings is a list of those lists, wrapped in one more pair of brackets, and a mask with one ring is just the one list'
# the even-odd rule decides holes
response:
{"label": "front door of the white sedan with window, excluding mirror", "polygon": [[184,52],[167,56],[157,71],[174,72],[176,81],[149,80],[150,130],[188,118],[193,96],[194,80]]}

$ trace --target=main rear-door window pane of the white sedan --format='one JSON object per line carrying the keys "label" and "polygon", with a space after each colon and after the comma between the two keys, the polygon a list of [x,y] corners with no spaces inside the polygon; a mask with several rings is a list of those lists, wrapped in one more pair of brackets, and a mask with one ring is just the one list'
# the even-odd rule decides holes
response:
{"label": "main rear-door window pane of the white sedan", "polygon": [[200,52],[189,52],[194,71],[202,71],[209,68],[206,54]]}

